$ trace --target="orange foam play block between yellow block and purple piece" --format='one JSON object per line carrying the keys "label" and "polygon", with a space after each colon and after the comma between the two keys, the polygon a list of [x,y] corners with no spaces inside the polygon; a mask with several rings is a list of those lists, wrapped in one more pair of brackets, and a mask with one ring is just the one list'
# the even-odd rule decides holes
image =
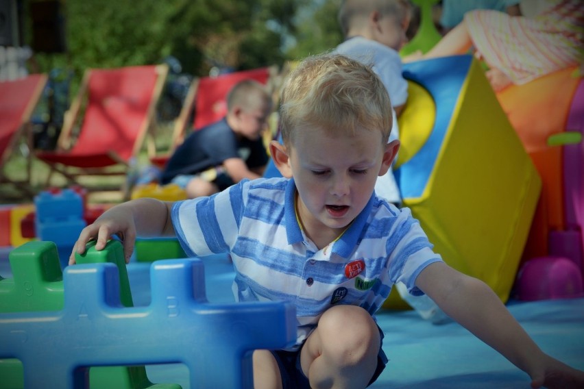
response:
{"label": "orange foam play block between yellow block and purple piece", "polygon": [[524,260],[548,255],[550,230],[565,229],[562,147],[550,146],[550,136],[565,131],[572,98],[581,82],[576,67],[513,85],[496,97],[542,177],[542,197],[529,232]]}

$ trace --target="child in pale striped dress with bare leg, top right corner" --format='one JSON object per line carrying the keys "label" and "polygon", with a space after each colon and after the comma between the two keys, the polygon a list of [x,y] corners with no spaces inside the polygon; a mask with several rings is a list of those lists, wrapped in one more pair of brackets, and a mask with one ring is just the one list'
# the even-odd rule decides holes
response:
{"label": "child in pale striped dress with bare leg, top right corner", "polygon": [[470,11],[428,53],[413,54],[404,62],[463,54],[471,47],[489,66],[487,78],[496,91],[582,65],[584,4],[581,0],[546,0],[544,10],[533,17]]}

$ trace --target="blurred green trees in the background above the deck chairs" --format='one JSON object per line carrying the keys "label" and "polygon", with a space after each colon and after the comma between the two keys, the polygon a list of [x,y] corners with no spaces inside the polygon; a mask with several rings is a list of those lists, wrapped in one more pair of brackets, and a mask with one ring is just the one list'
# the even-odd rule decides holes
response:
{"label": "blurred green trees in the background above the deck chairs", "polygon": [[[32,31],[26,17],[25,31]],[[340,0],[66,0],[67,53],[36,53],[38,71],[160,63],[169,55],[191,75],[213,66],[282,65],[341,41]],[[32,34],[25,42],[32,45]]]}

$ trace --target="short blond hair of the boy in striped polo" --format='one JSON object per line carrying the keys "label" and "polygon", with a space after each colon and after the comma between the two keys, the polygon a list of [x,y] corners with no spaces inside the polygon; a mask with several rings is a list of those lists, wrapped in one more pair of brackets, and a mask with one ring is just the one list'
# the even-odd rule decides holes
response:
{"label": "short blond hair of the boy in striped polo", "polygon": [[344,55],[306,58],[282,89],[280,126],[284,145],[299,127],[319,127],[339,134],[380,131],[385,145],[391,131],[391,101],[371,66]]}

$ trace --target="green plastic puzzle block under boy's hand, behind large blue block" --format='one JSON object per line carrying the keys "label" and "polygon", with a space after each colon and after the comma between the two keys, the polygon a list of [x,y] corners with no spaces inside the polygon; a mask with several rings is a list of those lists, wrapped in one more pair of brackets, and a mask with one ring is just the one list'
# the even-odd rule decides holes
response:
{"label": "green plastic puzzle block under boy's hand, behind large blue block", "polygon": [[[0,276],[0,313],[58,311],[63,309],[62,271],[56,244],[27,242],[9,254],[12,278]],[[110,240],[104,250],[95,250],[95,242],[87,244],[83,255],[75,255],[79,264],[112,262],[117,265],[120,279],[120,301],[132,307],[130,281],[117,240]],[[19,360],[0,360],[0,389],[24,388],[23,365]],[[144,366],[106,366],[90,368],[90,388],[167,388],[177,384],[152,384]]]}

